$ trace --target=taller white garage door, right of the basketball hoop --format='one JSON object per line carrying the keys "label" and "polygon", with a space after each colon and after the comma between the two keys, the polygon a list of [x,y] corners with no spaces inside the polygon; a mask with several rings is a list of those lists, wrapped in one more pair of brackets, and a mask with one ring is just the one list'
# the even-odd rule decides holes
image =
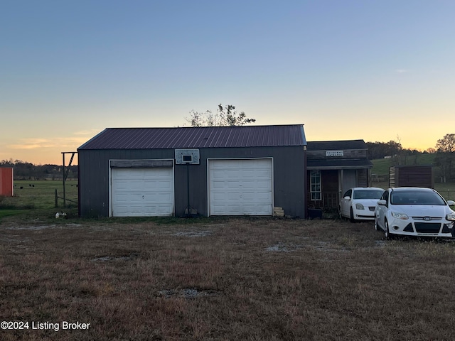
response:
{"label": "taller white garage door, right of the basketball hoop", "polygon": [[210,160],[210,215],[272,215],[272,159]]}

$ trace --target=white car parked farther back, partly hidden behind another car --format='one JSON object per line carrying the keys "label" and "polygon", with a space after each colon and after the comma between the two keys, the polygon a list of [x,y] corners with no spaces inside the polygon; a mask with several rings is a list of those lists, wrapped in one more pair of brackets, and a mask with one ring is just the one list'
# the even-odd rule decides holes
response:
{"label": "white car parked farther back, partly hidden behind another car", "polygon": [[355,220],[374,220],[375,207],[385,190],[376,187],[350,188],[340,201],[340,217]]}

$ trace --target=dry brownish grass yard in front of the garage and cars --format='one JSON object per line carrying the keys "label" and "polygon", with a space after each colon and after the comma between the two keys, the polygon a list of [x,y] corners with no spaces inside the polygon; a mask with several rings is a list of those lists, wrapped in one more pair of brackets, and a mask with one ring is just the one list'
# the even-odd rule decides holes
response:
{"label": "dry brownish grass yard in front of the garage and cars", "polygon": [[0,226],[1,340],[451,340],[455,245],[372,223]]}

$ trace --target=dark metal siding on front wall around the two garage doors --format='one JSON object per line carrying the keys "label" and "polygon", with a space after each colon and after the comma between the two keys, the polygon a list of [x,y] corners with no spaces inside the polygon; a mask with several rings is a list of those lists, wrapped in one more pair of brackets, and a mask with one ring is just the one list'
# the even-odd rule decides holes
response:
{"label": "dark metal siding on front wall around the two garage doors", "polygon": [[[173,149],[79,150],[80,215],[109,216],[109,160],[174,158]],[[257,148],[200,148],[200,165],[188,166],[190,205],[208,215],[208,158],[273,158],[274,205],[286,215],[305,217],[304,148],[302,146]],[[174,165],[175,215],[187,206],[186,165]]]}

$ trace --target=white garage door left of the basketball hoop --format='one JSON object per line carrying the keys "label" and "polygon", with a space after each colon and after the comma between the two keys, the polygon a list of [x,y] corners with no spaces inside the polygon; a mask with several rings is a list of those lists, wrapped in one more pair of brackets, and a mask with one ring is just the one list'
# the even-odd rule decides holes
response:
{"label": "white garage door left of the basketball hoop", "polygon": [[112,216],[173,215],[173,168],[112,168]]}

